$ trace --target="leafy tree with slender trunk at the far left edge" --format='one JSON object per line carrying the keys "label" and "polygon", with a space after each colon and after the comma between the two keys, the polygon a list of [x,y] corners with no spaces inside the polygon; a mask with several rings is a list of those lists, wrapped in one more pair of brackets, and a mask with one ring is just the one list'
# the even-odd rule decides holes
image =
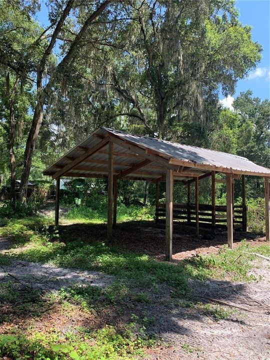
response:
{"label": "leafy tree with slender trunk at the far left edge", "polygon": [[[34,68],[39,51],[36,49],[29,56],[27,47],[31,46],[36,36],[40,34],[40,27],[36,21],[26,18],[16,6],[10,6],[1,1],[0,14],[0,65],[1,65],[1,99],[5,111],[2,121],[5,125],[8,138],[8,153],[10,167],[10,193],[12,204],[15,205],[15,176],[16,156],[14,147],[17,144],[16,136],[23,132],[23,121],[27,113],[29,98],[25,96],[24,89],[29,95],[28,85],[31,79],[28,73]],[[20,91],[18,91],[20,89]],[[24,102],[24,103],[23,103]]]}

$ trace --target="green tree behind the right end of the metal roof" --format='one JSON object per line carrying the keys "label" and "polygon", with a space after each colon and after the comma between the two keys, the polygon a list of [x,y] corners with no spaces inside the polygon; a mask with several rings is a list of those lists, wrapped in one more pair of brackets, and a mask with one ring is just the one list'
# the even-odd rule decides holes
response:
{"label": "green tree behind the right end of the metal roof", "polygon": [[[241,92],[233,101],[234,110],[222,109],[211,133],[211,148],[247,157],[270,167],[270,101],[252,96],[252,91]],[[240,186],[235,188],[240,195]],[[263,196],[263,179],[250,176],[247,194]]]}

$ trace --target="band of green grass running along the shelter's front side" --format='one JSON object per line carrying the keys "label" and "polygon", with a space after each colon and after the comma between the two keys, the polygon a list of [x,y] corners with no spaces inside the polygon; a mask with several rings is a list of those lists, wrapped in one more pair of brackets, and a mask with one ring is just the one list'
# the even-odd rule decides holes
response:
{"label": "band of green grass running along the shelter's front side", "polygon": [[[200,280],[209,277],[256,280],[248,275],[248,271],[253,266],[251,260],[257,258],[242,252],[252,251],[244,241],[232,251],[221,249],[219,254],[195,256],[174,264],[156,261],[146,254],[123,251],[104,242],[88,244],[81,240],[73,240],[65,243],[62,240],[65,240],[68,234],[65,233],[61,239],[55,230],[47,227],[48,224],[45,218],[38,217],[9,220],[5,226],[0,227],[0,235],[13,235],[14,247],[22,243],[28,245],[12,254],[21,259],[104,271],[116,276],[123,283],[128,280],[140,286],[154,286],[167,282],[182,294],[187,291],[188,277]],[[270,255],[270,247],[267,245],[257,246],[255,251]]]}

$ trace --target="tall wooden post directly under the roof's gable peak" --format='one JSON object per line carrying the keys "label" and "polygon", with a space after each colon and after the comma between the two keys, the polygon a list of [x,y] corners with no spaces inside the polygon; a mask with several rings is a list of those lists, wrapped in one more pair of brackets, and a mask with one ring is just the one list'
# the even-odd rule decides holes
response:
{"label": "tall wooden post directly under the roof's gable peak", "polygon": [[112,206],[113,206],[113,142],[108,143],[108,219],[107,241],[112,238]]}

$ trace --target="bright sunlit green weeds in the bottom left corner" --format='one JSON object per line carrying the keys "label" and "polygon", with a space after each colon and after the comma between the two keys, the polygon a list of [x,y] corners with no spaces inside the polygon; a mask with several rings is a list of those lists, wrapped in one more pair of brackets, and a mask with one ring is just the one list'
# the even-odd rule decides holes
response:
{"label": "bright sunlit green weeds in the bottom left corner", "polygon": [[[25,335],[14,330],[0,335],[0,356],[12,360],[127,360],[138,358],[146,346],[152,346],[143,328],[136,323],[126,325],[121,332],[113,326],[87,333],[85,329],[61,333],[35,332]],[[80,330],[80,331],[79,331]]]}

